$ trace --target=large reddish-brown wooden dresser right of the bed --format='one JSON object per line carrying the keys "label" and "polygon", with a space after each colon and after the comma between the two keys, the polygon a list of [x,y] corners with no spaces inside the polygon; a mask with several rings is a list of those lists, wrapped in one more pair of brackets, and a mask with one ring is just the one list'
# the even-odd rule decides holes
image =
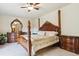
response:
{"label": "large reddish-brown wooden dresser right of the bed", "polygon": [[78,36],[60,36],[60,47],[79,54],[79,37]]}

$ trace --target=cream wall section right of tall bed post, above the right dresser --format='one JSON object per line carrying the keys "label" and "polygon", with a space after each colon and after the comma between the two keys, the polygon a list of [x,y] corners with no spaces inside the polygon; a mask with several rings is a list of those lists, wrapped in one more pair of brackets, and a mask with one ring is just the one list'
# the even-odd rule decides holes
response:
{"label": "cream wall section right of tall bed post, above the right dresser", "polygon": [[61,12],[62,34],[79,36],[79,4],[70,4]]}

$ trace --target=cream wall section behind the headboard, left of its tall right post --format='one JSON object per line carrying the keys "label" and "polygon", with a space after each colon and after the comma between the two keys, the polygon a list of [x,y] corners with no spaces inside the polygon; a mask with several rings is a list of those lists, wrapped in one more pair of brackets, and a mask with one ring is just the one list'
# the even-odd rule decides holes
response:
{"label": "cream wall section behind the headboard, left of its tall right post", "polygon": [[58,25],[58,12],[57,12],[57,10],[34,19],[33,20],[33,27],[35,27],[35,28],[38,28],[38,18],[40,18],[40,26],[42,26],[45,23],[45,21],[49,21],[55,25]]}

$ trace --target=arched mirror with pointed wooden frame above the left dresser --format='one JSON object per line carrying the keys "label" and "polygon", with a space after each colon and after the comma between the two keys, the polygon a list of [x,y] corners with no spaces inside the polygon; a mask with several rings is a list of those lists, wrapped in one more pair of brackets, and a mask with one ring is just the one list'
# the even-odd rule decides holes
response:
{"label": "arched mirror with pointed wooden frame above the left dresser", "polygon": [[18,19],[15,19],[11,22],[12,32],[16,32],[17,34],[21,34],[22,28],[23,28],[23,24]]}

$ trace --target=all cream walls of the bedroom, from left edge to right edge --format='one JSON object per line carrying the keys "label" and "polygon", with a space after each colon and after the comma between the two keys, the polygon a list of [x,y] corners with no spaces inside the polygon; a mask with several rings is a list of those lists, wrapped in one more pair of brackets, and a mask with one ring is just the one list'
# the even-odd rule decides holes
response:
{"label": "all cream walls of the bedroom, from left edge to right edge", "polygon": [[[79,4],[70,4],[61,8],[61,31],[62,35],[79,36]],[[18,18],[23,23],[23,31],[27,30],[27,19],[11,16],[0,16],[0,32],[10,32],[10,23]],[[41,25],[47,20],[58,24],[58,11],[55,10],[46,15],[41,15]],[[32,28],[38,28],[38,17],[31,20]]]}

